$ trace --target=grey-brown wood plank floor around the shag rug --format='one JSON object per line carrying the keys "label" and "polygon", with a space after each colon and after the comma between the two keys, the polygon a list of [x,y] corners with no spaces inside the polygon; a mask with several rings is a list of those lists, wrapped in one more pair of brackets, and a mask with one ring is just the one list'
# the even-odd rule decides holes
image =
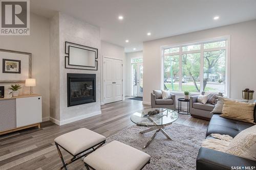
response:
{"label": "grey-brown wood plank floor around the shag rug", "polygon": [[[30,128],[0,136],[0,169],[59,169],[61,164],[54,138],[78,128],[88,128],[106,137],[134,125],[130,116],[135,111],[150,108],[141,101],[124,100],[101,106],[102,114],[58,126],[51,122],[41,124],[41,129]],[[206,129],[208,121],[180,114],[176,123]],[[63,151],[63,158],[71,156]],[[68,169],[85,169],[81,160]]]}

